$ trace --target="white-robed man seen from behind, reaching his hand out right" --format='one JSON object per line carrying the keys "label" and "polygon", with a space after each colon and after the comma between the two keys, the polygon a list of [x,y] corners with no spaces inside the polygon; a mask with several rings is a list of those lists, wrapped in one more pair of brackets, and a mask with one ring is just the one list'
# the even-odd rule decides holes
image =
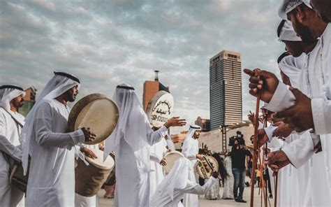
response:
{"label": "white-robed man seen from behind, reaching his hand out right", "polygon": [[114,101],[119,106],[116,129],[105,140],[104,156],[115,151],[115,206],[149,206],[149,147],[161,141],[169,127],[183,126],[185,120],[172,117],[153,131],[133,87],[117,86]]}

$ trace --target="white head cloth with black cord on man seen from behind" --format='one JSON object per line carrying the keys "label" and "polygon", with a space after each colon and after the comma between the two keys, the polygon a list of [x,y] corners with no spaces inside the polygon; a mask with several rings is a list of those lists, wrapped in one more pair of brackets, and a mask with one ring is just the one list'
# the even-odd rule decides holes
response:
{"label": "white head cloth with black cord on man seen from behind", "polygon": [[148,127],[152,130],[133,87],[128,84],[117,86],[113,99],[119,107],[119,121],[115,130],[105,140],[104,158],[117,148],[122,137],[133,152],[141,150],[148,144]]}

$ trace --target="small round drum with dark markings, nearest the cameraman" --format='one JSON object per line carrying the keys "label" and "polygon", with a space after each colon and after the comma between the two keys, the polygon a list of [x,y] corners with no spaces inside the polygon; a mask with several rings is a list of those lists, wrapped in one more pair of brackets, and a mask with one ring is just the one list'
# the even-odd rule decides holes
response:
{"label": "small round drum with dark markings, nearest the cameraman", "polygon": [[219,163],[214,157],[204,156],[203,161],[198,159],[198,162],[196,162],[194,165],[194,169],[200,178],[208,179],[210,176],[212,176],[212,169],[214,169],[216,172],[219,171]]}

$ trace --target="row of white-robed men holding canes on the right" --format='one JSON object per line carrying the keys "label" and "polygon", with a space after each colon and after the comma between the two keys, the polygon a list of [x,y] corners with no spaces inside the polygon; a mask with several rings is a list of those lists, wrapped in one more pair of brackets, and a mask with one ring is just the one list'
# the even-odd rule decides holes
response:
{"label": "row of white-robed men holding canes on the right", "polygon": [[[272,124],[258,130],[265,158],[278,173],[279,206],[331,205],[331,1],[283,0],[278,59],[281,80],[245,69],[249,93],[260,97]],[[284,139],[284,141],[280,140]]]}

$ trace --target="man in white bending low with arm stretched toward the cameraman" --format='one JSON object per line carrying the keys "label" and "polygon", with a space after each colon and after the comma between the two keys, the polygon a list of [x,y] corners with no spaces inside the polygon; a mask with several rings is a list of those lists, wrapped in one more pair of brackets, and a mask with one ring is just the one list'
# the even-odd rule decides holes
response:
{"label": "man in white bending low with arm stretched toward the cameraman", "polygon": [[[184,194],[205,194],[212,185],[216,184],[218,173],[215,171],[205,185],[200,186],[196,180],[192,180],[190,171],[193,167],[189,159],[179,158],[171,171],[157,187],[152,196],[151,207],[177,207]],[[193,207],[193,206],[192,206]]]}

